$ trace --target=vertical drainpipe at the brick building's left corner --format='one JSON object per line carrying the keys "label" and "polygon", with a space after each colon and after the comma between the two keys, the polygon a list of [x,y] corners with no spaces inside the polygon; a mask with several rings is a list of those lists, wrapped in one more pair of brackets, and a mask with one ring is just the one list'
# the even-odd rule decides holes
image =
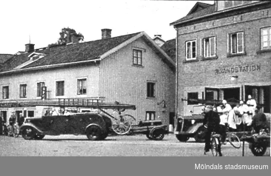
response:
{"label": "vertical drainpipe at the brick building's left corner", "polygon": [[174,128],[177,126],[177,117],[178,117],[178,30],[176,30],[176,56],[175,56],[175,119],[174,119]]}

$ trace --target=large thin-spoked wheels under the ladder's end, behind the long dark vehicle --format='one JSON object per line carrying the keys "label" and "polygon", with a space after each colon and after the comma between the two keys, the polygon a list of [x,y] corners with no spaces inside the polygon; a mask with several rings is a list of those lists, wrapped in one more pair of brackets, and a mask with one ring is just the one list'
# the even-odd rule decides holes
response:
{"label": "large thin-spoked wheels under the ladder's end, behind the long dark vehicle", "polygon": [[112,119],[112,129],[118,135],[128,134],[135,122],[135,117],[131,115],[119,115],[118,119]]}

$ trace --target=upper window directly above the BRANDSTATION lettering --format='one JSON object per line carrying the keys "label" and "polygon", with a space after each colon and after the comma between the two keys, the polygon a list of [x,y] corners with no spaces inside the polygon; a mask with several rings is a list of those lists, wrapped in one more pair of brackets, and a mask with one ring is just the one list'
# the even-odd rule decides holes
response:
{"label": "upper window directly above the BRANDSTATION lettering", "polygon": [[230,54],[244,53],[244,32],[231,33],[229,39]]}

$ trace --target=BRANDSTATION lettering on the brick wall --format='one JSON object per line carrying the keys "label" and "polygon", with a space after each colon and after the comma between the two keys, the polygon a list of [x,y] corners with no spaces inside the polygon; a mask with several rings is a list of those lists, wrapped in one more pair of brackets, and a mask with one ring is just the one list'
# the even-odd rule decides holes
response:
{"label": "BRANDSTATION lettering on the brick wall", "polygon": [[238,73],[238,72],[253,72],[253,71],[260,71],[260,70],[261,70],[261,64],[239,65],[239,66],[215,69],[215,75]]}

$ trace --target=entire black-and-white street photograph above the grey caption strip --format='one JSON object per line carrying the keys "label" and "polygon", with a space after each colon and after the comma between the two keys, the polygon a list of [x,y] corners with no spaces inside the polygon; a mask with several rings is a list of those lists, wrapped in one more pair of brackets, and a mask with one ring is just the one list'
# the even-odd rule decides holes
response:
{"label": "entire black-and-white street photograph above the grey caption strip", "polygon": [[271,156],[270,0],[0,9],[0,156]]}

